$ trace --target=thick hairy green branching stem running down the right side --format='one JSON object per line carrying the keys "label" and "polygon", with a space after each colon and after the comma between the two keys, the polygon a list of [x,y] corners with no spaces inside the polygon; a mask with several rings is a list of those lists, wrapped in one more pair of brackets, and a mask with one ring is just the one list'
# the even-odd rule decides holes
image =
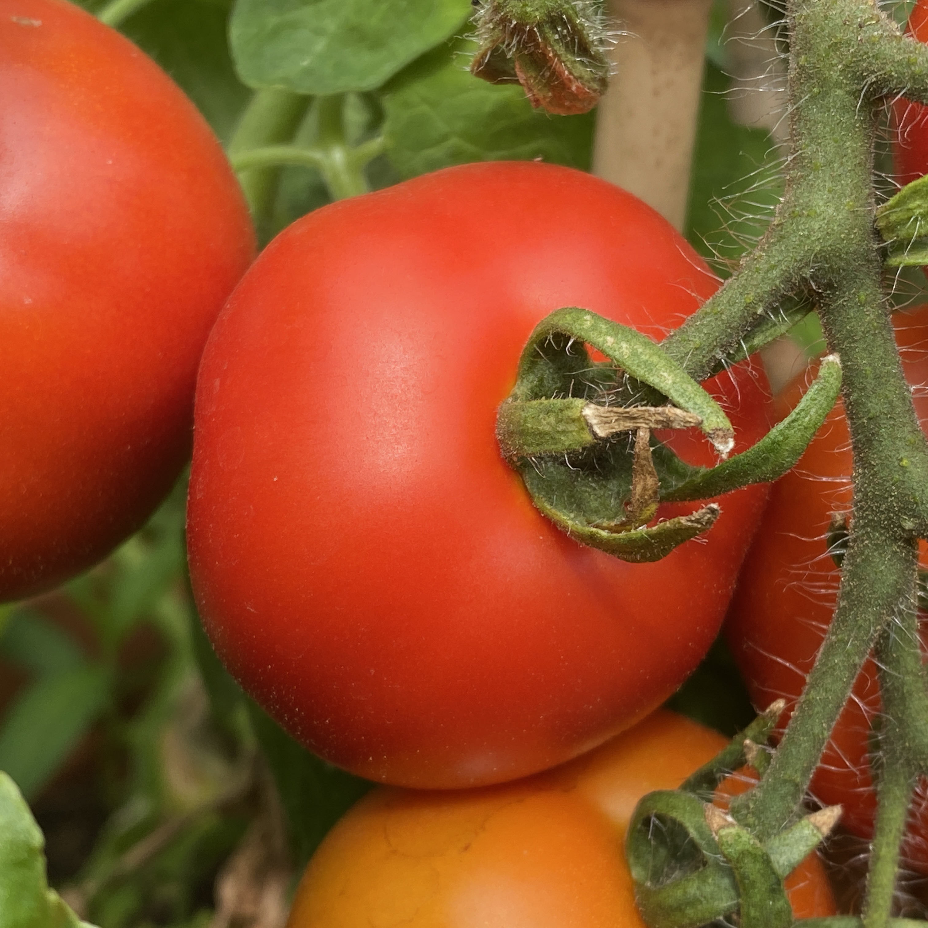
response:
{"label": "thick hairy green branching stem running down the right side", "polygon": [[[915,612],[917,539],[928,534],[928,443],[903,376],[874,228],[875,129],[884,97],[928,102],[928,48],[872,0],[789,0],[791,157],[784,200],[757,250],[664,341],[702,379],[786,298],[813,299],[854,451],[854,520],[838,606],[780,746],[731,814],[766,842],[796,817],[861,664],[878,637],[887,767],[864,924],[891,914],[898,845],[928,769],[928,695]],[[882,636],[882,637],[881,637]]]}

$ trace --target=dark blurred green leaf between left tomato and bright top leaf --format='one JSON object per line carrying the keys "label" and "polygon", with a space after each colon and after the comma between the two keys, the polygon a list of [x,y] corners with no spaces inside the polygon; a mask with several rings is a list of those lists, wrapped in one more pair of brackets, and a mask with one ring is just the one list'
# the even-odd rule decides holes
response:
{"label": "dark blurred green leaf between left tomato and bright top leaf", "polygon": [[154,0],[122,26],[174,78],[224,142],[251,96],[232,67],[227,19],[228,10],[209,0]]}

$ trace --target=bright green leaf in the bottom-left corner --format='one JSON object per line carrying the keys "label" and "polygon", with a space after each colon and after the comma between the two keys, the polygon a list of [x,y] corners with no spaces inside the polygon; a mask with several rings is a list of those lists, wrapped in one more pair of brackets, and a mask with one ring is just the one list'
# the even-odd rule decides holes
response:
{"label": "bright green leaf in the bottom-left corner", "polygon": [[0,773],[0,928],[93,928],[48,888],[45,838],[6,773]]}

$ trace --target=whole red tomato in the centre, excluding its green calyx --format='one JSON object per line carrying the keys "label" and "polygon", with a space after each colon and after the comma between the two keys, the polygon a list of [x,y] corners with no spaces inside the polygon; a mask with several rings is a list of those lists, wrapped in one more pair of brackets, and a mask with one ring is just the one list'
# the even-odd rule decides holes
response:
{"label": "whole red tomato in the centre, excluding its green calyx", "polygon": [[[548,312],[659,337],[715,286],[649,207],[535,162],[448,169],[290,226],[227,303],[197,393],[191,574],[245,690],[329,761],[433,788],[551,767],[676,690],[766,490],[627,564],[533,508],[496,407]],[[767,423],[758,380],[720,379],[742,445]]]}

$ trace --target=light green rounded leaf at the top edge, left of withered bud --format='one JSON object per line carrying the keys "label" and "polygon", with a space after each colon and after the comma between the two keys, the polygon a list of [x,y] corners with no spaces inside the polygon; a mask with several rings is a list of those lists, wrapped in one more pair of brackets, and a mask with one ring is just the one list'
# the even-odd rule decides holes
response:
{"label": "light green rounded leaf at the top edge, left of withered bud", "polygon": [[373,90],[458,32],[468,0],[237,0],[230,42],[251,87]]}

